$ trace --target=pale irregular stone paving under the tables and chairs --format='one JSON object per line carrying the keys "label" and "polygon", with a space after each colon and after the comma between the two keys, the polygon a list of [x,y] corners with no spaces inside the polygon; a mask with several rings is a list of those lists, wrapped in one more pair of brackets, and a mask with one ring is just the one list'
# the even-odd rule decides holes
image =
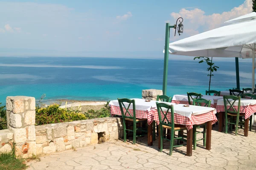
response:
{"label": "pale irregular stone paving under the tables and chairs", "polygon": [[199,141],[190,157],[185,156],[186,146],[175,148],[169,156],[169,142],[160,153],[157,140],[148,147],[147,138],[141,137],[136,145],[118,140],[41,156],[41,161],[26,164],[27,170],[256,170],[255,127],[248,137],[242,135],[243,130],[235,136],[215,127],[211,150]]}

